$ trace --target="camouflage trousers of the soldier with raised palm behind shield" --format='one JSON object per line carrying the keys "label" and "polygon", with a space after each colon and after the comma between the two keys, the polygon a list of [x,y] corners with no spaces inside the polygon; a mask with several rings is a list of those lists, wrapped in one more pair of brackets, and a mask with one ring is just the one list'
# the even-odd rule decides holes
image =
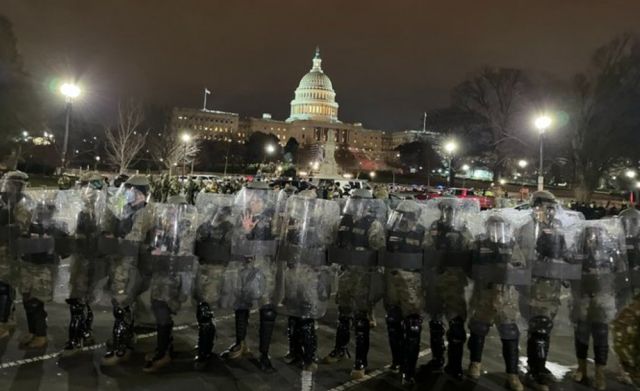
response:
{"label": "camouflage trousers of the soldier with raised palm behind shield", "polygon": [[251,309],[276,303],[278,267],[271,257],[247,258],[227,265],[222,302],[231,309]]}

